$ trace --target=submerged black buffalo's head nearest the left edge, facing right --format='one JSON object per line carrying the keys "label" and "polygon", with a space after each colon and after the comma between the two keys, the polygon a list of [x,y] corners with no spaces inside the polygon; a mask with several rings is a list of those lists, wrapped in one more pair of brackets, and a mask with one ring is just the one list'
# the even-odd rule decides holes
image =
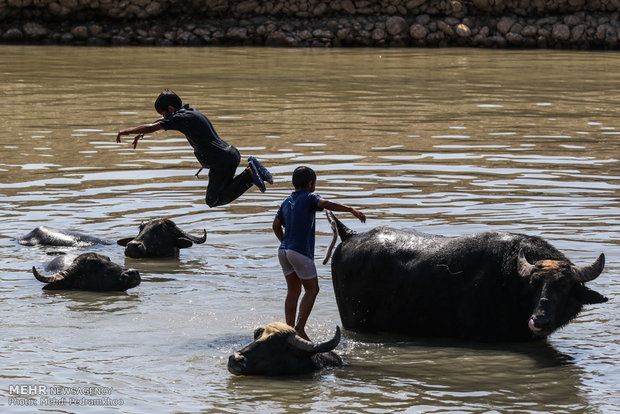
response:
{"label": "submerged black buffalo's head nearest the left edge, facing right", "polygon": [[38,281],[46,283],[45,290],[92,290],[123,292],[140,284],[140,274],[112,263],[109,257],[97,253],[82,253],[64,270],[46,276],[33,266]]}

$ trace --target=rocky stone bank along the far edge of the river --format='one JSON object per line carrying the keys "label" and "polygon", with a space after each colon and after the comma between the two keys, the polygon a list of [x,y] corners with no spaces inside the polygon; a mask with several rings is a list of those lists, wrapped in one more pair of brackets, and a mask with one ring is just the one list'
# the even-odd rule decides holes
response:
{"label": "rocky stone bank along the far edge of the river", "polygon": [[618,49],[620,0],[0,0],[0,42]]}

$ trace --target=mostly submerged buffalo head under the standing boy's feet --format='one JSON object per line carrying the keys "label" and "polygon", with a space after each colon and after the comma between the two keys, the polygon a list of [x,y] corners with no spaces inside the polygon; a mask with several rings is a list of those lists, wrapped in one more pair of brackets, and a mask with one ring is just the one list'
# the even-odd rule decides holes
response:
{"label": "mostly submerged buffalo head under the standing boy's feet", "polygon": [[339,367],[342,359],[332,352],[339,342],[339,327],[329,341],[313,343],[274,322],[256,329],[254,342],[228,358],[228,370],[235,375],[300,375]]}

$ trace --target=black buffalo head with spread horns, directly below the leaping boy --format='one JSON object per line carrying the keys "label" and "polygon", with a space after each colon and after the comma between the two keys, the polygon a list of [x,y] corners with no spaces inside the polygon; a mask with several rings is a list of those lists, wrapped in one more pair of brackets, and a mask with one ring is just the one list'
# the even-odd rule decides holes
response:
{"label": "black buffalo head with spread horns, directly below the leaping boy", "polygon": [[172,220],[156,218],[142,222],[136,237],[120,239],[117,243],[125,246],[127,257],[171,257],[178,255],[181,248],[204,243],[207,232],[203,232],[202,237],[192,236],[178,228]]}

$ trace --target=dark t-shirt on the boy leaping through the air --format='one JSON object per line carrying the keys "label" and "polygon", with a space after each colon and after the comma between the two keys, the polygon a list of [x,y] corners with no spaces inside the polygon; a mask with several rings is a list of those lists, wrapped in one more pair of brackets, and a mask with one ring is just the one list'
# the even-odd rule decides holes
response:
{"label": "dark t-shirt on the boy leaping through the air", "polygon": [[202,112],[187,104],[157,122],[166,131],[183,133],[194,147],[194,154],[204,168],[217,166],[231,149],[231,145],[217,135],[211,121]]}

